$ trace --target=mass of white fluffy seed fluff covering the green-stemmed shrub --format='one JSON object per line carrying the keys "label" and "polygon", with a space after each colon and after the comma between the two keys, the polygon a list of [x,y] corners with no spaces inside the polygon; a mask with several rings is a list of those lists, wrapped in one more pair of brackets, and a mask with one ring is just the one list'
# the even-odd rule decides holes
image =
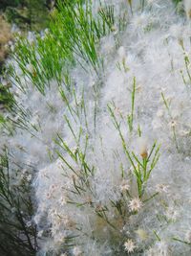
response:
{"label": "mass of white fluffy seed fluff covering the green-stemmed shrub", "polygon": [[[27,87],[25,92],[17,86],[11,90],[19,105],[30,112],[31,126],[29,130],[17,128],[12,137],[2,136],[0,148],[7,145],[18,165],[35,170],[33,221],[38,228],[39,255],[113,256],[137,250],[137,255],[183,255],[186,244],[173,238],[190,243],[191,237],[190,232],[185,236],[191,212],[191,59],[188,66],[185,63],[185,55],[191,56],[190,24],[175,12],[171,0],[93,2],[94,13],[99,2],[113,6],[117,17],[122,11],[128,13],[124,30],[113,28],[96,45],[103,59],[101,76],[96,76],[89,63],[85,69],[76,64],[70,71],[75,97],[66,98],[76,110],[71,114],[59,92],[60,86],[65,89],[64,82],[58,86],[50,81],[45,97],[12,60]],[[140,2],[145,2],[143,10]],[[190,18],[191,1],[183,3]],[[33,73],[31,64],[27,69]],[[130,131],[127,117],[134,78]],[[122,142],[108,110],[111,104]],[[156,159],[149,158],[154,141],[160,144],[156,166]],[[141,179],[137,181],[124,143],[132,159],[138,157],[137,170],[155,166],[148,179],[145,175],[143,196],[138,195]],[[135,148],[138,151],[133,156]],[[86,186],[80,187],[83,182]]]}

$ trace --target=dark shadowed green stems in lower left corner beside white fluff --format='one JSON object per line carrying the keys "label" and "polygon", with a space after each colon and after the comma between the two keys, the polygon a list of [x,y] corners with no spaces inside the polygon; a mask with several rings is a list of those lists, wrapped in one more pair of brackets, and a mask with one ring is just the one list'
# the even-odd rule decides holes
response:
{"label": "dark shadowed green stems in lower left corner beside white fluff", "polygon": [[[32,223],[32,190],[27,173],[21,184],[14,184],[11,175],[9,151],[0,154],[0,255],[34,256],[37,250],[37,232]],[[13,171],[23,173],[19,165]]]}

